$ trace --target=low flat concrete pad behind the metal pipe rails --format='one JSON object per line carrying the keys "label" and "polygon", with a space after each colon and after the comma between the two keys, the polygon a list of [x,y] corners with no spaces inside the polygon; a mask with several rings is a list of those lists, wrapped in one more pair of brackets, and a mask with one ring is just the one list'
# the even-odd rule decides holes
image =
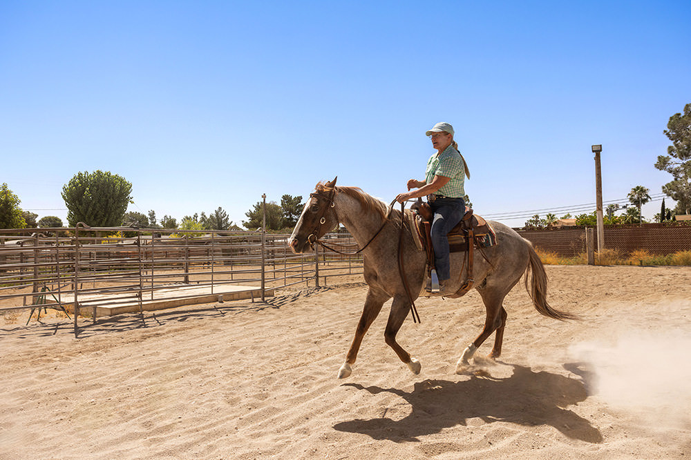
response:
{"label": "low flat concrete pad behind the metal pipe rails", "polygon": [[[88,309],[97,317],[113,316],[115,314],[139,312],[139,299],[132,296],[137,292],[126,292],[120,294],[84,294],[77,296],[79,299],[79,309]],[[273,288],[264,290],[265,297],[274,295]],[[122,297],[128,297],[122,299]],[[163,310],[164,308],[174,308],[183,305],[194,305],[198,303],[210,303],[218,301],[232,301],[241,299],[261,299],[261,288],[256,286],[237,286],[220,285],[214,286],[163,286],[152,291],[144,290],[142,293],[142,310]],[[62,296],[62,305],[68,312],[74,311],[74,297]]]}

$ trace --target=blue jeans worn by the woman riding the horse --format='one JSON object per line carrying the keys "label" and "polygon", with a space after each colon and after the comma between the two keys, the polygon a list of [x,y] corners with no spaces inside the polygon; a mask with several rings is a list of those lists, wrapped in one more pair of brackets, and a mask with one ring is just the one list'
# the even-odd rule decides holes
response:
{"label": "blue jeans worn by the woman riding the horse", "polygon": [[448,237],[457,223],[463,219],[466,212],[466,203],[462,198],[437,198],[430,203],[434,212],[432,221],[432,246],[434,246],[434,259],[439,281],[451,278],[451,263],[448,254]]}

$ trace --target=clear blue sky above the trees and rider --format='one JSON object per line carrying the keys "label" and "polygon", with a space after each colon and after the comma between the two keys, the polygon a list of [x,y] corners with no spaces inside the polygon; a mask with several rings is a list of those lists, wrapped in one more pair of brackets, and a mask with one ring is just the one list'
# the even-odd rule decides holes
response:
{"label": "clear blue sky above the trees and rider", "polygon": [[108,170],[131,211],[239,224],[336,175],[390,202],[448,121],[487,217],[594,203],[595,143],[605,202],[659,196],[690,25],[688,0],[0,0],[0,182],[66,223],[62,186]]}

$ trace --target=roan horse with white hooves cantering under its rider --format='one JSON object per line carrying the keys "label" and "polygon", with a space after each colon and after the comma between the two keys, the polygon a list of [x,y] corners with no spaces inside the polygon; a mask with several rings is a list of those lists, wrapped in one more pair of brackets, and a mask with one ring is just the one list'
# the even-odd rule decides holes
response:
{"label": "roan horse with white hooves cantering under its rider", "polygon": [[[288,239],[288,246],[296,254],[311,252],[315,243],[325,246],[319,238],[341,223],[361,248],[359,252],[363,254],[363,276],[368,291],[338,377],[350,377],[364,335],[384,303],[391,298],[393,301],[384,339],[399,359],[414,374],[419,374],[421,363],[399,345],[396,334],[422,292],[426,281],[426,253],[415,246],[411,229],[401,219],[401,211],[394,210],[360,188],[337,187],[336,180],[316,184]],[[507,323],[507,311],[502,303],[523,274],[526,275],[525,287],[533,306],[540,314],[558,320],[577,319],[576,315],[555,310],[547,303],[547,274],[531,243],[500,222],[490,221],[489,224],[496,234],[497,244],[483,249],[484,257],[476,258],[471,276],[475,280],[473,287],[482,297],[486,318],[482,332],[465,348],[456,363],[456,372],[459,374],[468,366],[477,348],[493,332],[495,340],[489,358],[497,359],[500,356]],[[396,263],[399,252],[403,270]],[[451,282],[459,289],[464,277],[467,277],[463,259],[462,253],[451,253]],[[406,277],[408,286],[403,277]]]}

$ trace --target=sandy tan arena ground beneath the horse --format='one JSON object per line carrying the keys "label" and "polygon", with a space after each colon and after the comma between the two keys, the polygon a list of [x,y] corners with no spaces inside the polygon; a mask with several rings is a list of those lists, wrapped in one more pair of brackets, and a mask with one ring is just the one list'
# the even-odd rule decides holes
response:
{"label": "sandy tan arena ground beneath the horse", "polygon": [[473,291],[419,299],[399,342],[387,303],[337,372],[366,287],[278,291],[84,321],[0,322],[0,459],[689,459],[691,268],[548,266],[562,323],[522,285],[500,361],[455,374],[482,328]]}

